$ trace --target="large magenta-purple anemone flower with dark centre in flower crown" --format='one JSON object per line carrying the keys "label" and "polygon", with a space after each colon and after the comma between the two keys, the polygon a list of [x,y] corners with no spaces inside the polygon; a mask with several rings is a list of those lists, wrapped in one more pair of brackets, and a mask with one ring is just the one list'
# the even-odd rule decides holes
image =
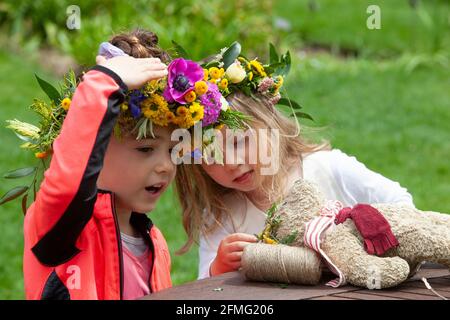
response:
{"label": "large magenta-purple anemone flower with dark centre in flower crown", "polygon": [[167,87],[163,96],[169,103],[174,101],[186,104],[184,95],[194,89],[197,81],[203,79],[203,69],[191,60],[178,58],[173,60],[168,68]]}

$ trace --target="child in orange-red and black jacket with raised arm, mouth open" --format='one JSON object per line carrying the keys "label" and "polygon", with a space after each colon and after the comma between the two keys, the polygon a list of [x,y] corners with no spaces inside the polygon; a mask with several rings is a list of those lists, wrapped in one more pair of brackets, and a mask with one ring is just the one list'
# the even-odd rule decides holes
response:
{"label": "child in orange-red and black jacket with raised arm, mouth open", "polygon": [[175,176],[171,126],[113,134],[128,90],[167,75],[157,41],[142,30],[114,37],[76,88],[25,216],[27,299],[134,299],[171,286],[166,241],[144,214]]}

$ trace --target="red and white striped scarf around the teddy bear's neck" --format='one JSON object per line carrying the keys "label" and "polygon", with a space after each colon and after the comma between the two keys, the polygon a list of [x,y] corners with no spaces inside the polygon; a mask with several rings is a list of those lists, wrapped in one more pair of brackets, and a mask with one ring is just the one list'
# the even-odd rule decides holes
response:
{"label": "red and white striped scarf around the teddy bear's neck", "polygon": [[340,201],[327,201],[324,207],[321,208],[320,215],[306,224],[305,236],[303,239],[305,245],[318,252],[325,260],[331,272],[338,276],[338,278],[331,280],[326,284],[327,286],[331,286],[333,288],[344,285],[346,283],[345,276],[341,270],[333,264],[325,252],[323,252],[320,248],[320,243],[325,236],[325,231],[327,231],[330,227],[334,228],[334,220],[336,215],[343,208],[344,206]]}

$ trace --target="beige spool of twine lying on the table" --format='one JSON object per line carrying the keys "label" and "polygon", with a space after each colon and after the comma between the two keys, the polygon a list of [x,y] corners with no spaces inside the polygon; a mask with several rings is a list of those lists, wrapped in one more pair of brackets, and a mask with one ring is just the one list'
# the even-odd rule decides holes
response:
{"label": "beige spool of twine lying on the table", "polygon": [[249,280],[316,285],[322,274],[316,253],[282,244],[249,244],[242,255],[242,272]]}

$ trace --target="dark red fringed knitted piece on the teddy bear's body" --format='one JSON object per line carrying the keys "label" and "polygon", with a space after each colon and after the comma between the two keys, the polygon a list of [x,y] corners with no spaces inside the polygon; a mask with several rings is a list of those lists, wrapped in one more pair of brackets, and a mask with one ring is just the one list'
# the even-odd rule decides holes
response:
{"label": "dark red fringed knitted piece on the teddy bear's body", "polygon": [[335,223],[343,223],[351,218],[361,236],[364,238],[364,249],[369,254],[382,255],[387,250],[398,246],[397,238],[391,231],[389,222],[374,207],[368,204],[357,204],[344,208],[336,216]]}

